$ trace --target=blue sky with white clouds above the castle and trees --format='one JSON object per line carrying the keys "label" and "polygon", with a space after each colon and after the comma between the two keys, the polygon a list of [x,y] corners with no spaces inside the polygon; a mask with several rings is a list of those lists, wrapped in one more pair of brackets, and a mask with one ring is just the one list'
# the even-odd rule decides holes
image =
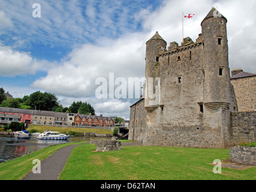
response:
{"label": "blue sky with white clouds above the castle and trees", "polygon": [[[0,0],[0,87],[129,119],[139,98],[128,80],[145,77],[146,41],[158,31],[167,46],[181,44],[182,13],[195,13],[184,20],[184,37],[195,41],[212,7],[228,19],[230,70],[256,73],[255,0]],[[101,88],[107,97],[96,94]]]}

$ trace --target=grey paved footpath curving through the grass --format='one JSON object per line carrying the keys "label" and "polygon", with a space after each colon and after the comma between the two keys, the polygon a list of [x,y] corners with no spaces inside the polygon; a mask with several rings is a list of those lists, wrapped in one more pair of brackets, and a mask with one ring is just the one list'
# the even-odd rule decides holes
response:
{"label": "grey paved footpath curving through the grass", "polygon": [[35,174],[31,171],[23,180],[57,180],[72,149],[76,146],[78,145],[69,145],[61,148],[41,162],[41,173]]}

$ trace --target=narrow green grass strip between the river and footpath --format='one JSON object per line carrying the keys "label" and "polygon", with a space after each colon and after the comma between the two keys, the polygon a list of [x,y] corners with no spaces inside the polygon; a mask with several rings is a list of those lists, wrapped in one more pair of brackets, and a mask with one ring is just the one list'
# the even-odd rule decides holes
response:
{"label": "narrow green grass strip between the river and footpath", "polygon": [[74,144],[78,143],[65,143],[61,145],[48,146],[44,149],[33,152],[30,155],[2,163],[0,164],[0,180],[20,180],[35,166],[35,164],[32,164],[33,160],[38,159],[42,161],[64,146]]}

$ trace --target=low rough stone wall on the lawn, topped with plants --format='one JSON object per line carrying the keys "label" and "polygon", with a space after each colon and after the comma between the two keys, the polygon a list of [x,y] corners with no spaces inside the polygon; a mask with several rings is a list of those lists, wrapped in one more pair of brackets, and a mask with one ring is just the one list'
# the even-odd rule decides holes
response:
{"label": "low rough stone wall on the lawn, topped with plants", "polygon": [[233,163],[256,166],[256,148],[245,146],[233,146],[229,149],[229,160]]}

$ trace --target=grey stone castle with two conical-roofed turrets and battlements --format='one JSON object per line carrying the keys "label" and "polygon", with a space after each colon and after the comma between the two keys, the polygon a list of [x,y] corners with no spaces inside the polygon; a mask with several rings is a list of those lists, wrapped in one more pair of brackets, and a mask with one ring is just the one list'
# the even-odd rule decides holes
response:
{"label": "grey stone castle with two conical-roofed turrets and battlements", "polygon": [[[237,118],[230,81],[226,23],[212,8],[196,42],[187,37],[181,46],[172,42],[166,49],[158,32],[146,42],[146,85],[143,98],[131,106],[128,139],[198,148],[228,148],[241,138],[255,140],[253,125],[249,136],[234,139],[233,129],[237,135],[244,133],[231,122],[231,113],[235,120],[243,119]],[[250,115],[254,121],[256,113]]]}

